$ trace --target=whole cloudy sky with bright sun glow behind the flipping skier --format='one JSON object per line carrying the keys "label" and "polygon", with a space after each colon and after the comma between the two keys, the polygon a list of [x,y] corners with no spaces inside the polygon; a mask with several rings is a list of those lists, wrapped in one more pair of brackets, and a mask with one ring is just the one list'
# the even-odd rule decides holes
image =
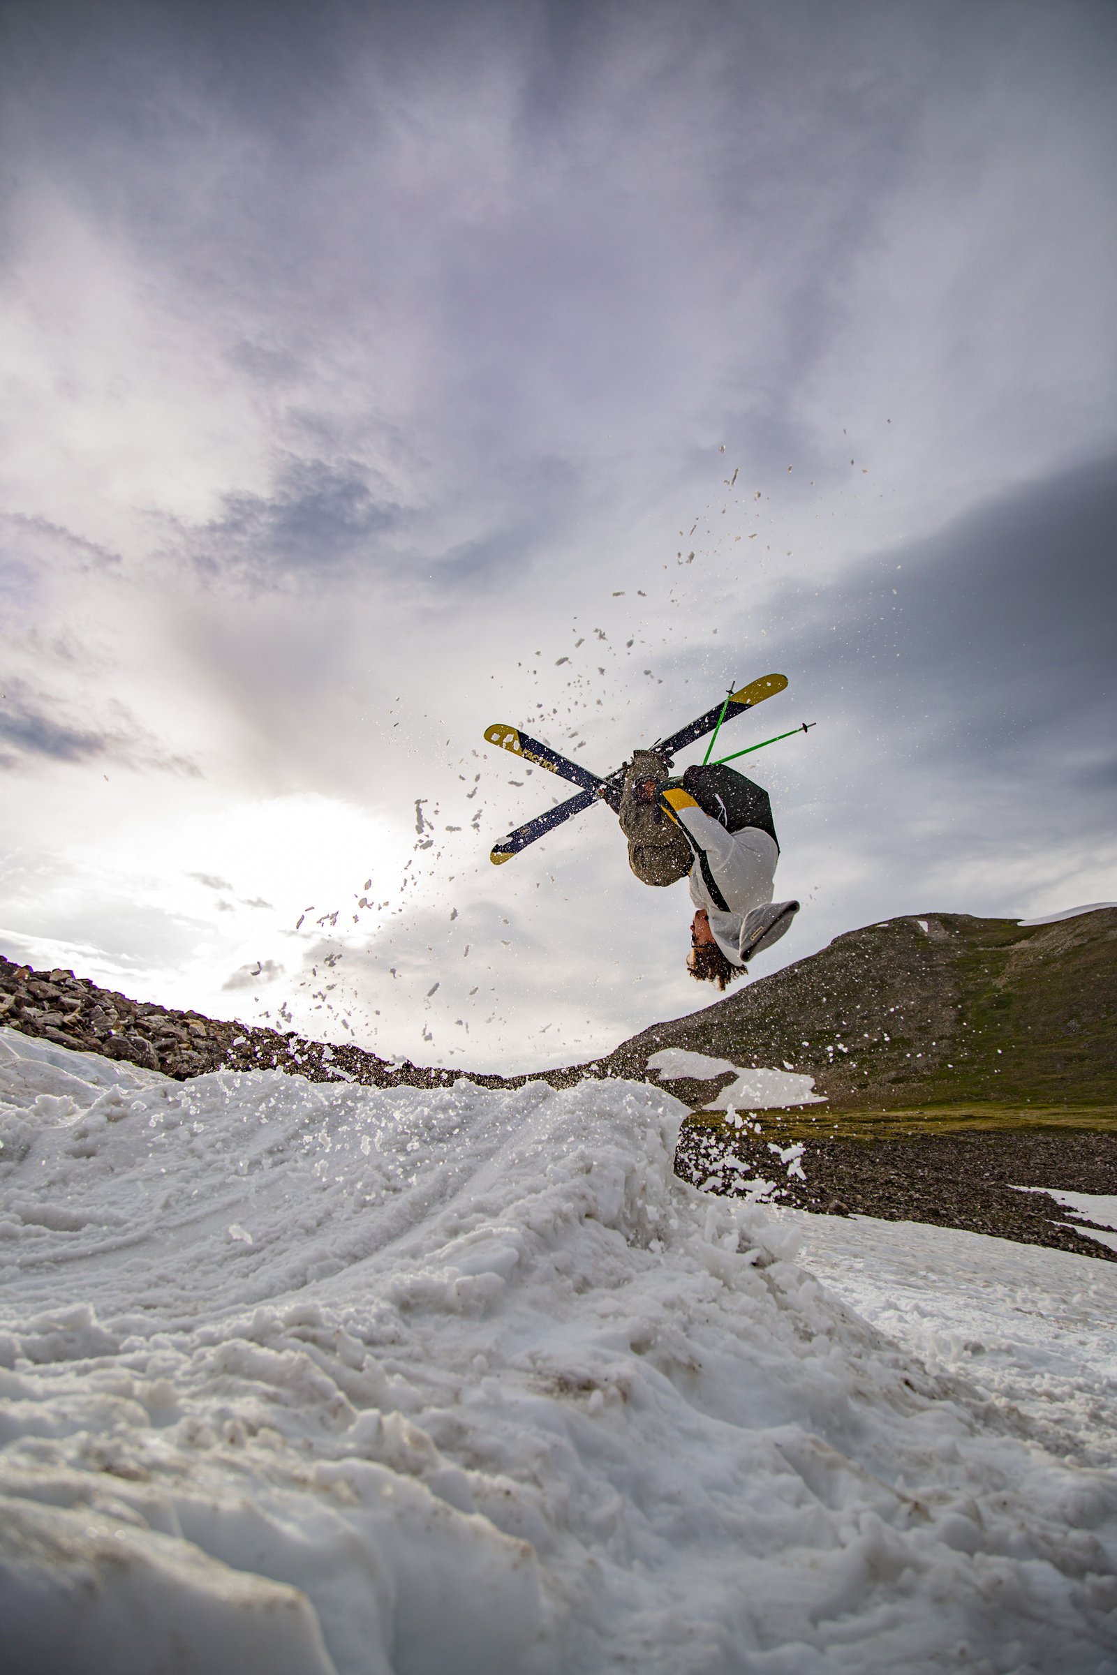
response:
{"label": "whole cloudy sky with bright sun glow behind the flipping skier", "polygon": [[[569,787],[730,688],[764,977],[1117,896],[1117,13],[0,7],[0,951],[476,1070],[717,1000]],[[678,760],[700,760],[692,747]]]}

